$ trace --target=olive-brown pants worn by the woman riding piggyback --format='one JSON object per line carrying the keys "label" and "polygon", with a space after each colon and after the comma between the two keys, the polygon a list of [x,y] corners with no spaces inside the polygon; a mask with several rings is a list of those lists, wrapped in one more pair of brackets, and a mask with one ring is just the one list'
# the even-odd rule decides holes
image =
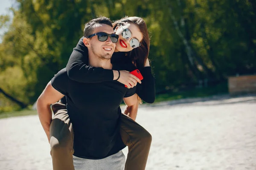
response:
{"label": "olive-brown pants worn by the woman riding piggyback", "polygon": [[[74,170],[73,126],[66,105],[52,105],[54,113],[50,125],[50,146],[53,170]],[[125,114],[120,119],[122,141],[128,146],[125,170],[145,170],[151,145],[151,134]]]}

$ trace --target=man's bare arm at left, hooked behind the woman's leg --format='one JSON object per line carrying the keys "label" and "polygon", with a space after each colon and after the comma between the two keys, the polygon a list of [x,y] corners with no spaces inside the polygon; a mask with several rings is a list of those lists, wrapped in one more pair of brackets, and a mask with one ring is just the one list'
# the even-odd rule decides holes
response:
{"label": "man's bare arm at left, hooked behind the woman's leg", "polygon": [[52,111],[50,109],[50,105],[58,102],[62,97],[64,97],[64,94],[55,90],[55,88],[52,87],[51,82],[49,82],[36,102],[38,116],[47,135],[48,142],[50,141],[49,129],[52,122]]}

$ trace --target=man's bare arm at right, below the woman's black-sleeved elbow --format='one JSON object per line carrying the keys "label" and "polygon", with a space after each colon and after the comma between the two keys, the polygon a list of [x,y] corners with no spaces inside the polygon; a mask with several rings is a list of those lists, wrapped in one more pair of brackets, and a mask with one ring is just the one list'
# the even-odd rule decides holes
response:
{"label": "man's bare arm at right, below the woman's black-sleeved elbow", "polygon": [[125,112],[127,116],[131,117],[135,121],[137,117],[138,107],[139,107],[139,101],[137,98],[137,94],[134,94],[130,97],[124,98],[124,102],[126,105]]}

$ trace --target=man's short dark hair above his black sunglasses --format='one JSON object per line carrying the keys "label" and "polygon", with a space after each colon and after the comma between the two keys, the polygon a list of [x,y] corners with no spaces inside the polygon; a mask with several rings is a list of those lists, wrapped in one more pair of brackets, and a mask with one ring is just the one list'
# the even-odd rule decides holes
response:
{"label": "man's short dark hair above his black sunglasses", "polygon": [[84,37],[88,37],[89,35],[93,34],[94,27],[97,24],[107,24],[113,27],[112,22],[109,18],[100,16],[84,24]]}

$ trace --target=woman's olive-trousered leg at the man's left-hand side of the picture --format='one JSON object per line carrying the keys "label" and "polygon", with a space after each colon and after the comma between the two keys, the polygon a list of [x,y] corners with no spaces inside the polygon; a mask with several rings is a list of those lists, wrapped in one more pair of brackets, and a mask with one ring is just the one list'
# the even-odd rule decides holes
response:
{"label": "woman's olive-trousered leg at the man's left-hand side of the picture", "polygon": [[54,116],[50,125],[50,153],[53,170],[74,170],[74,134],[66,105],[57,102],[52,105],[52,111]]}

